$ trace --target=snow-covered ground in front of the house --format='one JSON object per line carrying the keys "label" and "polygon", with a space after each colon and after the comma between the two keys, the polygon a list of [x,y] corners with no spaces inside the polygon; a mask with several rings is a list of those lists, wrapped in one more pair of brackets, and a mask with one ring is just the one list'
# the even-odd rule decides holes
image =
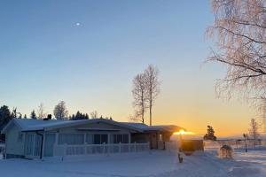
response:
{"label": "snow-covered ground in front of the house", "polygon": [[0,160],[0,174],[4,177],[265,177],[266,150],[235,151],[233,160],[219,159],[216,150],[207,150],[184,157],[183,164],[178,163],[176,153],[168,151],[65,161],[8,159]]}

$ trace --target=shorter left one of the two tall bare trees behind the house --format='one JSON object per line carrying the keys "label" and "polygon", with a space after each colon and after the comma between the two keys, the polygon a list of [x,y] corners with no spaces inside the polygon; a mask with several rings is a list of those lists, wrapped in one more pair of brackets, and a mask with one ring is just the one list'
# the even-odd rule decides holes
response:
{"label": "shorter left one of the two tall bare trees behind the house", "polygon": [[147,89],[145,83],[145,74],[139,73],[133,80],[132,94],[134,97],[135,116],[131,117],[133,120],[140,120],[145,123],[145,111],[147,101]]}

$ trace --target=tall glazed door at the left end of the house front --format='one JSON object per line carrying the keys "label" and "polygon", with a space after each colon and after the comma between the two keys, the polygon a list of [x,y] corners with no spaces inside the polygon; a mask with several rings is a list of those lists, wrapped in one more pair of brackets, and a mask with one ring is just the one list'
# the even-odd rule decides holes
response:
{"label": "tall glazed door at the left end of the house front", "polygon": [[27,134],[26,136],[26,158],[40,158],[42,136]]}

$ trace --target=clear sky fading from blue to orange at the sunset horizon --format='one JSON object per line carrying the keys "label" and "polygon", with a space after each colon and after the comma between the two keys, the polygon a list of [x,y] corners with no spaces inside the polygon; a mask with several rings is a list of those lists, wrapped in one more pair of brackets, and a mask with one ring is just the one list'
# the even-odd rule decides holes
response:
{"label": "clear sky fading from blue to orange at the sunset horizon", "polygon": [[71,114],[128,121],[132,79],[152,64],[161,81],[154,125],[247,132],[254,108],[218,98],[215,82],[226,70],[205,64],[213,19],[208,0],[0,1],[0,105],[29,115],[64,100]]}

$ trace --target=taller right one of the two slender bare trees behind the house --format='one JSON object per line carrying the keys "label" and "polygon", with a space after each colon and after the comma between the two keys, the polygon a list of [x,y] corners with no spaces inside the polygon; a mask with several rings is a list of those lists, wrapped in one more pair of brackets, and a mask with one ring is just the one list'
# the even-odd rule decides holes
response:
{"label": "taller right one of the two slender bare trees behind the house", "polygon": [[150,126],[152,126],[153,121],[153,105],[160,94],[160,81],[159,81],[159,70],[154,65],[149,65],[145,69],[145,88],[147,92],[147,102],[150,113]]}

